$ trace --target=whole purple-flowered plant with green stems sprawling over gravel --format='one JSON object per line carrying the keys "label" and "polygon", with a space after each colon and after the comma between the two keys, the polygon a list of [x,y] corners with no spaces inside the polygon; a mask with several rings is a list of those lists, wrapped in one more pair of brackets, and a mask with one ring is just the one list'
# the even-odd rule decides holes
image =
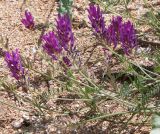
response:
{"label": "whole purple-flowered plant with green stems sprawling over gravel", "polygon": [[[46,32],[40,37],[42,44],[37,55],[47,64],[45,65],[46,69],[39,70],[34,67],[34,62],[20,56],[20,51],[16,49],[12,52],[6,51],[4,55],[4,61],[11,76],[17,82],[22,83],[22,88],[25,88],[22,91],[26,92],[26,96],[31,94],[27,98],[27,102],[39,115],[46,116],[48,113],[57,113],[69,116],[84,112],[86,108],[87,112],[80,123],[109,117],[114,120],[111,117],[128,115],[129,118],[125,122],[127,125],[137,114],[141,114],[146,119],[141,123],[147,122],[148,114],[158,112],[150,100],[160,91],[160,75],[134,61],[133,56],[137,54],[139,47],[134,24],[121,16],[113,16],[110,22],[106,22],[100,6],[93,3],[89,5],[87,11],[96,40],[96,44],[91,47],[99,47],[103,52],[103,56],[95,59],[95,62],[92,63],[93,67],[97,66],[97,61],[102,65],[99,80],[97,80],[96,72],[92,72],[92,67],[87,64],[91,55],[89,58],[86,57],[86,61],[83,61],[85,57],[79,50],[79,44],[75,43],[72,22],[69,15],[65,13],[58,14],[54,31]],[[25,17],[22,19],[22,23],[26,28],[33,30],[35,28],[33,16],[26,10]],[[116,59],[116,62],[121,65],[120,70],[116,70],[116,72],[113,70],[115,64],[112,59]],[[42,81],[47,83],[48,90],[33,88],[31,83],[35,75],[41,78],[40,83]],[[12,83],[12,85],[14,84],[17,83]],[[24,99],[17,95],[16,86],[8,86],[5,82],[2,82],[2,85],[4,88],[10,88],[13,91],[11,93],[19,101]],[[63,92],[69,92],[78,97],[56,97]],[[67,107],[57,111],[47,105],[49,100],[81,101],[84,107],[74,111],[75,113]],[[99,106],[107,100],[121,105],[124,111],[105,113]],[[26,98],[23,101],[26,101]],[[122,129],[125,129],[126,125]]]}

